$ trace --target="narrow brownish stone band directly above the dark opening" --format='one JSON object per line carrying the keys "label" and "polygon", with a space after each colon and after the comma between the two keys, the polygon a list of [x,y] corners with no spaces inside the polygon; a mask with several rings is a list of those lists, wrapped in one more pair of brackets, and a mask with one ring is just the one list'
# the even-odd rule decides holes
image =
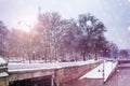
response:
{"label": "narrow brownish stone band directly above the dark opening", "polygon": [[10,73],[9,82],[42,77],[42,76],[53,75],[53,74],[54,74],[54,69],[23,71],[23,72],[16,72],[14,74]]}

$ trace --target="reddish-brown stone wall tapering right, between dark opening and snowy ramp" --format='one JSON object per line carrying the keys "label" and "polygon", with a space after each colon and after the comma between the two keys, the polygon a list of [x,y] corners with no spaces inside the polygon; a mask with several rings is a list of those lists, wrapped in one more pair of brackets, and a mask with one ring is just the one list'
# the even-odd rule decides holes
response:
{"label": "reddish-brown stone wall tapering right, between dark opening and snowy ramp", "polygon": [[55,71],[55,82],[57,86],[62,86],[63,83],[79,78],[80,76],[84,75],[100,63],[101,62],[99,61],[96,63],[57,69]]}

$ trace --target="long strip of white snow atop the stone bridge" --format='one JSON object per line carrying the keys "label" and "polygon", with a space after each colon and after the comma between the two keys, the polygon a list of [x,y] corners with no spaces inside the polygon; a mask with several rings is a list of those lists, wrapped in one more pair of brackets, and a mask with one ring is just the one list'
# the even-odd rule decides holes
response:
{"label": "long strip of white snow atop the stone bridge", "polygon": [[18,72],[18,71],[32,71],[32,70],[41,70],[41,69],[60,69],[65,67],[74,67],[74,66],[83,66],[87,63],[96,62],[94,59],[88,61],[75,61],[75,62],[55,62],[55,63],[15,63],[9,62],[8,69],[9,72]]}

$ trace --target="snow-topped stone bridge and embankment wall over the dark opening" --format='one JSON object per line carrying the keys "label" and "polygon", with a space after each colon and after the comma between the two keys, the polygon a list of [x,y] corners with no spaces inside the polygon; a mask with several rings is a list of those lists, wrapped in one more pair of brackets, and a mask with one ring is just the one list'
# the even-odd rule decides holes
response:
{"label": "snow-topped stone bridge and embankment wall over the dark opening", "polygon": [[62,83],[80,77],[100,63],[101,61],[93,60],[58,63],[3,63],[1,66],[4,67],[1,67],[1,70],[8,75],[1,75],[0,86],[10,86],[9,83],[14,81],[35,80],[46,76],[50,77],[50,86],[61,86]]}

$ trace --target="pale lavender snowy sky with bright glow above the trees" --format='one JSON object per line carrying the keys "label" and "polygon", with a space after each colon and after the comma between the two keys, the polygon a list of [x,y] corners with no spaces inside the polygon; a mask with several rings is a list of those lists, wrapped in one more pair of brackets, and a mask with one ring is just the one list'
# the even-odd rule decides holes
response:
{"label": "pale lavender snowy sky with bright glow above the trees", "polygon": [[110,42],[130,48],[130,0],[0,0],[0,20],[8,28],[32,26],[39,6],[41,13],[56,11],[68,19],[91,13],[104,23]]}

